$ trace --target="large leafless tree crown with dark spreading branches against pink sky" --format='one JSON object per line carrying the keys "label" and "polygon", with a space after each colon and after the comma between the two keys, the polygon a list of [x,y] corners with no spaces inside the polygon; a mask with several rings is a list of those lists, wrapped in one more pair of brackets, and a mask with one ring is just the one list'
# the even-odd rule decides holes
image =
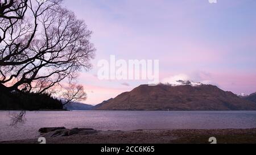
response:
{"label": "large leafless tree crown with dark spreading branches against pink sky", "polygon": [[1,1],[0,89],[44,93],[90,69],[92,32],[61,2]]}

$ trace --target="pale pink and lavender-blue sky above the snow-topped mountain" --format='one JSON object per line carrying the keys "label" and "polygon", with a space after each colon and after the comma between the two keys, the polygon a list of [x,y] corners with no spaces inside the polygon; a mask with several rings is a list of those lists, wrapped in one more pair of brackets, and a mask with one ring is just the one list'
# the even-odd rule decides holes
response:
{"label": "pale pink and lavender-blue sky above the snow-topped mountain", "polygon": [[254,0],[66,0],[93,31],[93,68],[81,72],[98,104],[148,80],[99,79],[101,60],[159,60],[159,81],[188,79],[233,93],[256,91]]}

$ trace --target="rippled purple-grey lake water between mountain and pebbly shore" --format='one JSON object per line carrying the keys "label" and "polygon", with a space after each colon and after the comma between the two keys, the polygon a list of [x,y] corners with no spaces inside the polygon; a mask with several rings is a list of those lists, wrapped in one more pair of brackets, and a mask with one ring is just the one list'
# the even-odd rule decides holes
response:
{"label": "rippled purple-grey lake water between mountain and pebbly shore", "polygon": [[39,137],[41,127],[133,129],[256,128],[256,111],[28,111],[26,123],[10,127],[0,111],[0,141]]}

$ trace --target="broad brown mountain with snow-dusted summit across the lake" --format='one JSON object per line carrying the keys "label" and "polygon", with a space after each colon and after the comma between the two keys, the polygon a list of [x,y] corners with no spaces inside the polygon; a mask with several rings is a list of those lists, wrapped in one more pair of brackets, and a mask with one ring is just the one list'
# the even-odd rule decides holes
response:
{"label": "broad brown mountain with snow-dusted summit across the lake", "polygon": [[182,85],[140,85],[94,107],[95,110],[256,110],[256,103],[217,86],[180,81]]}

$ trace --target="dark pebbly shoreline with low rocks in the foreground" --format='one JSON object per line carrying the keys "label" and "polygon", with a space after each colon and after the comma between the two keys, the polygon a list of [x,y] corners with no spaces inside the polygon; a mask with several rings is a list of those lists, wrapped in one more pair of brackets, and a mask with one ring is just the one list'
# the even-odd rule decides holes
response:
{"label": "dark pebbly shoreline with low rocks in the foreground", "polygon": [[[133,131],[74,128],[47,131],[41,136],[46,137],[48,144],[209,144],[209,137],[216,137],[217,143],[220,144],[256,144],[256,128],[137,129]],[[38,143],[38,139],[0,141],[0,144]]]}

